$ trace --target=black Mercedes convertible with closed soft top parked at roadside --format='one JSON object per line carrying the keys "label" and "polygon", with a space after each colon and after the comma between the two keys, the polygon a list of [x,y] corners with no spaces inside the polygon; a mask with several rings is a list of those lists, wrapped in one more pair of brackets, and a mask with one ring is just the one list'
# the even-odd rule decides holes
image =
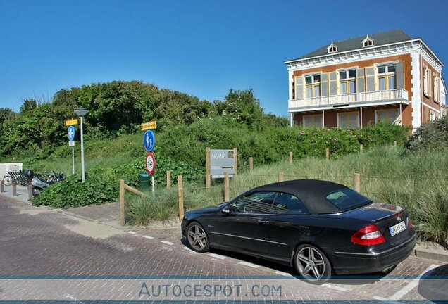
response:
{"label": "black Mercedes convertible with closed soft top parked at roadside", "polygon": [[314,284],[333,273],[390,272],[416,243],[404,208],[311,179],[259,186],[189,211],[182,235],[194,251],[213,247],[292,265]]}

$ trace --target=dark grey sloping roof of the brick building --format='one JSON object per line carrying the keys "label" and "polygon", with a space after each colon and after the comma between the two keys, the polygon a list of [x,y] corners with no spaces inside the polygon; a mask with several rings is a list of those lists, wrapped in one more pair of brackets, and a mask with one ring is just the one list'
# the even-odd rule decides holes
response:
{"label": "dark grey sloping roof of the brick building", "polygon": [[[346,40],[340,40],[337,42],[333,42],[333,44],[337,45],[337,53],[344,52],[344,51],[354,51],[356,49],[362,49],[363,46],[363,40],[366,39],[367,35],[356,37],[352,39],[346,39]],[[393,44],[397,42],[405,42],[408,40],[411,40],[412,38],[409,37],[408,34],[403,32],[402,30],[393,30],[390,32],[380,32],[377,34],[368,34],[368,37],[373,39],[375,41],[374,46],[382,46],[385,44]],[[325,44],[325,46],[322,46],[320,49],[316,49],[316,51],[312,51],[311,53],[306,54],[305,56],[301,56],[300,58],[297,58],[296,60],[316,57],[316,56],[323,56],[328,54],[328,46],[331,42],[328,42],[328,44]],[[334,54],[334,53],[331,53]]]}

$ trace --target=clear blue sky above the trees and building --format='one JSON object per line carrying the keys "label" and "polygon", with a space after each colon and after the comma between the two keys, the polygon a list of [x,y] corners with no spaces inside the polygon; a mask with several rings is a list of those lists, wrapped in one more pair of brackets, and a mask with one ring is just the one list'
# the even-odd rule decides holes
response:
{"label": "clear blue sky above the trees and building", "polygon": [[447,63],[447,14],[442,0],[0,0],[0,108],[142,80],[209,101],[252,88],[266,112],[286,116],[283,61],[402,29]]}

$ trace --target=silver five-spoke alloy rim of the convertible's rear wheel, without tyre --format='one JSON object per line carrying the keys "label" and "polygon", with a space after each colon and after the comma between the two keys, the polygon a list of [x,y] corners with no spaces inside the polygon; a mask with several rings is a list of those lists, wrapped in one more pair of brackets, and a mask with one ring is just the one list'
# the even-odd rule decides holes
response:
{"label": "silver five-spoke alloy rim of the convertible's rear wheel, without tyre", "polygon": [[297,254],[296,263],[301,276],[310,281],[318,281],[325,274],[325,262],[321,253],[315,248],[301,248]]}

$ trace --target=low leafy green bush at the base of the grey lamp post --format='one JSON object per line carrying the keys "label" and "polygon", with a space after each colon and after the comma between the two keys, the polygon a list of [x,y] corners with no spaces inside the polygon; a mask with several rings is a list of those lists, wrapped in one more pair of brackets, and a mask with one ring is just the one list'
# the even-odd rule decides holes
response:
{"label": "low leafy green bush at the base of the grey lamp post", "polygon": [[116,200],[117,197],[117,182],[99,176],[89,176],[82,183],[79,175],[73,175],[63,182],[50,185],[32,200],[32,205],[70,208],[107,203]]}

